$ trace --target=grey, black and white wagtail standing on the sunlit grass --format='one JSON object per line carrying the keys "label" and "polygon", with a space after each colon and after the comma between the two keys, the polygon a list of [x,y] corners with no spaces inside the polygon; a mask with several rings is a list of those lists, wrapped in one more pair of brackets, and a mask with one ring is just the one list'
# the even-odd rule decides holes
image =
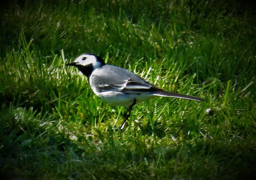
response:
{"label": "grey, black and white wagtail standing on the sunlit grass", "polygon": [[121,130],[129,119],[133,106],[153,97],[204,100],[199,97],[165,91],[131,71],[106,64],[100,56],[95,54],[81,54],[74,62],[65,66],[78,68],[88,78],[92,91],[100,99],[114,106],[128,107],[127,112],[123,115]]}

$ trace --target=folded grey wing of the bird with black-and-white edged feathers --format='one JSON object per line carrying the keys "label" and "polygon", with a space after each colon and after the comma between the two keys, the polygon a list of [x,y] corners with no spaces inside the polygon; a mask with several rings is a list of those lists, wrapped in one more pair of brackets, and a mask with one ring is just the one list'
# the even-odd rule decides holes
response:
{"label": "folded grey wing of the bird with black-and-white edged feathers", "polygon": [[161,91],[153,84],[146,82],[134,73],[121,67],[105,65],[96,69],[90,79],[98,91],[119,91],[123,93],[152,93]]}

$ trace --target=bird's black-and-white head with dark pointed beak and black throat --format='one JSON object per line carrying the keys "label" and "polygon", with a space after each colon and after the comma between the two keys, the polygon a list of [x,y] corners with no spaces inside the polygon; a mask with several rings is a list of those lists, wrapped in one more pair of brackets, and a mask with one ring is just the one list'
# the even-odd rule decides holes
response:
{"label": "bird's black-and-white head with dark pointed beak and black throat", "polygon": [[84,75],[90,76],[92,71],[104,65],[105,62],[100,56],[94,54],[82,54],[75,59],[74,62],[66,64],[66,66],[77,67]]}

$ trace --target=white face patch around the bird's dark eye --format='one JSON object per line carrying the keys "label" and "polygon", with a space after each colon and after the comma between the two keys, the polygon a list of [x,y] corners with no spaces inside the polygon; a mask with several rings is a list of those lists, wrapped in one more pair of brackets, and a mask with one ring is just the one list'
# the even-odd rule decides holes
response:
{"label": "white face patch around the bird's dark eye", "polygon": [[87,66],[92,65],[93,69],[97,69],[101,66],[101,62],[97,61],[96,56],[89,54],[82,54],[78,58],[75,59],[77,65]]}

